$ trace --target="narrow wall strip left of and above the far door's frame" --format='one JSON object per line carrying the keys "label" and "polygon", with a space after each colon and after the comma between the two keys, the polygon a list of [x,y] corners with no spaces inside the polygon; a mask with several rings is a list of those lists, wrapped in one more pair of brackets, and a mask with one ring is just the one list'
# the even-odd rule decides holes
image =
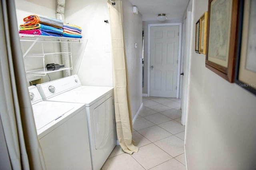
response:
{"label": "narrow wall strip left of and above the far door's frame", "polygon": [[163,24],[163,23],[181,23],[182,20],[166,20],[160,21],[144,21],[142,28],[144,29],[144,87],[142,88],[143,94],[148,94],[148,24]]}

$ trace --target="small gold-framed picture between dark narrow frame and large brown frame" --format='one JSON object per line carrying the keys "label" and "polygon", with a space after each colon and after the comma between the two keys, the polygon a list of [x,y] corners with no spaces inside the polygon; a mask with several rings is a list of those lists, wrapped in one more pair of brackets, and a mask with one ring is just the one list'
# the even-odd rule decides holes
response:
{"label": "small gold-framed picture between dark narrow frame and large brown frame", "polygon": [[200,17],[199,53],[203,53],[203,54],[206,53],[207,17],[208,17],[208,11],[206,11]]}

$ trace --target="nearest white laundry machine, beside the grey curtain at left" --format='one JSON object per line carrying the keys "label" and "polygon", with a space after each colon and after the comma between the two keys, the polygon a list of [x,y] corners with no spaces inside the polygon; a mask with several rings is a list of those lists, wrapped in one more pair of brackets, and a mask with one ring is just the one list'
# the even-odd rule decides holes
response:
{"label": "nearest white laundry machine, beside the grey curtain at left", "polygon": [[91,170],[84,104],[43,101],[28,87],[38,138],[48,170]]}

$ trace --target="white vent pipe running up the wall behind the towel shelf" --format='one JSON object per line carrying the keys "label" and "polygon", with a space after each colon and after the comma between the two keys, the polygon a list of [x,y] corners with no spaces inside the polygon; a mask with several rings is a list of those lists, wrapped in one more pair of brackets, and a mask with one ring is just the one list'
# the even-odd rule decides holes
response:
{"label": "white vent pipe running up the wall behind the towel shelf", "polygon": [[[65,0],[57,0],[57,9],[56,9],[56,18],[58,20],[62,20],[65,22]],[[60,43],[60,49],[61,52],[68,53],[68,43]],[[62,54],[62,64],[65,65],[65,67],[70,68],[70,57],[68,54]],[[63,77],[68,77],[71,75],[70,70],[64,70],[63,71]]]}

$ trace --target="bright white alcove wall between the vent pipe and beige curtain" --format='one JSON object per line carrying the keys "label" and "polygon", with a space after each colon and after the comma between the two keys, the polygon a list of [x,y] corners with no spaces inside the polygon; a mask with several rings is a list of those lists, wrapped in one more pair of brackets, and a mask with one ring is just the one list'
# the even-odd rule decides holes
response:
{"label": "bright white alcove wall between the vent pipe and beige curtain", "polygon": [[[82,85],[113,86],[110,27],[107,0],[67,0],[65,20],[82,27],[88,39],[83,56],[73,56],[74,65],[80,63],[78,76]],[[78,51],[82,49],[78,49]]]}

